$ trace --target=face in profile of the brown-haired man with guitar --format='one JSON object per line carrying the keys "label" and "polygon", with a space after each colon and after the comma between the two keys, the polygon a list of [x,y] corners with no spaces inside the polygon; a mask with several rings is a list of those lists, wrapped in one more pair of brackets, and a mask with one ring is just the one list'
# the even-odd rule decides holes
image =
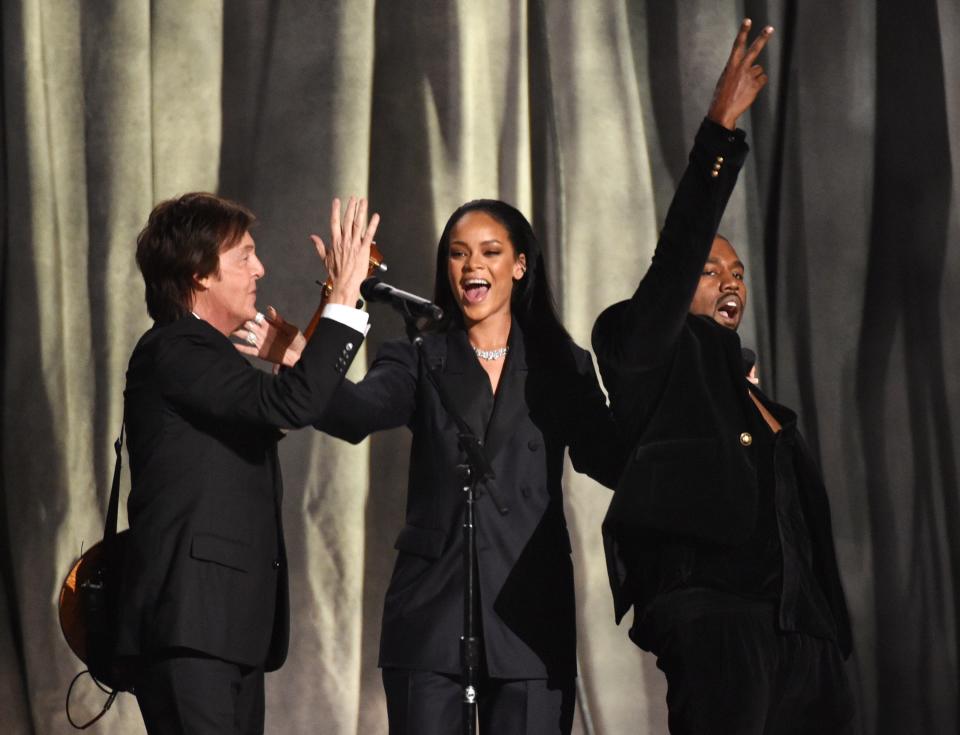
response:
{"label": "face in profile of the brown-haired man with guitar", "polygon": [[211,324],[229,333],[257,315],[257,281],[264,275],[256,245],[245,232],[235,246],[220,252],[219,272],[197,279],[204,314]]}

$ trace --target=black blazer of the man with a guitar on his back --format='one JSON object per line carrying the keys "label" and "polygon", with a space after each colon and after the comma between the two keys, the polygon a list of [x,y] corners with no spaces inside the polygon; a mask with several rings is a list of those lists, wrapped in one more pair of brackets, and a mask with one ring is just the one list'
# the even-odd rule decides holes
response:
{"label": "black blazer of the man with a guitar on his back", "polygon": [[184,647],[283,663],[279,428],[317,420],[362,341],[322,319],[297,366],[274,377],[193,316],[140,339],[124,394],[132,487],[119,655]]}

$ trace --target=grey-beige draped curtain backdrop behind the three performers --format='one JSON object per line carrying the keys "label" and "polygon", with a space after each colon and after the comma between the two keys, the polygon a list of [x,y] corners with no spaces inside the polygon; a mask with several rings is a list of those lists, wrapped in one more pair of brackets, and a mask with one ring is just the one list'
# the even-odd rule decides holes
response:
{"label": "grey-beige draped curtain backdrop behind the three performers", "polygon": [[[748,263],[744,342],[826,477],[858,731],[958,731],[955,0],[3,0],[0,12],[5,732],[69,731],[64,694],[82,667],[57,596],[102,534],[126,361],[149,326],[134,240],[156,202],[210,190],[249,205],[261,308],[303,325],[322,276],[307,235],[326,235],[332,196],[369,195],[390,280],[422,293],[449,213],[505,199],[533,221],[564,321],[589,346],[596,315],[646,270],[743,15],[777,34],[721,228]],[[367,358],[401,334],[386,310],[372,323]],[[268,732],[386,732],[376,656],[408,448],[405,430],[281,444],[292,645],[267,678]],[[576,732],[664,733],[663,677],[613,624],[609,491],[567,474]],[[102,699],[81,682],[78,714]],[[128,695],[95,727],[143,732]]]}

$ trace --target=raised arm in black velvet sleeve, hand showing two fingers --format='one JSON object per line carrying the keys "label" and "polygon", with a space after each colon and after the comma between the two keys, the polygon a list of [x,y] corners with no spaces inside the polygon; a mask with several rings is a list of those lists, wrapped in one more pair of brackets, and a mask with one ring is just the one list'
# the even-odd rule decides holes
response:
{"label": "raised arm in black velvet sleeve, hand showing two fingers", "polygon": [[597,319],[593,348],[604,371],[647,370],[667,359],[690,308],[727,200],[747,154],[737,120],[767,83],[755,64],[773,28],[747,47],[750,20],[740,26],[717,81],[707,117],[673,201],[650,268],[633,297]]}

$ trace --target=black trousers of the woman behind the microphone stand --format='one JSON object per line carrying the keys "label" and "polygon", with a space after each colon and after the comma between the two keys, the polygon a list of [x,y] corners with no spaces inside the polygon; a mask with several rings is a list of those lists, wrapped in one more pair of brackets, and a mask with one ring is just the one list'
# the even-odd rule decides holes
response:
{"label": "black trousers of the woman behind the microphone stand", "polygon": [[[458,735],[463,732],[460,678],[431,671],[384,669],[390,735]],[[569,735],[576,685],[573,677],[481,678],[480,735]]]}

